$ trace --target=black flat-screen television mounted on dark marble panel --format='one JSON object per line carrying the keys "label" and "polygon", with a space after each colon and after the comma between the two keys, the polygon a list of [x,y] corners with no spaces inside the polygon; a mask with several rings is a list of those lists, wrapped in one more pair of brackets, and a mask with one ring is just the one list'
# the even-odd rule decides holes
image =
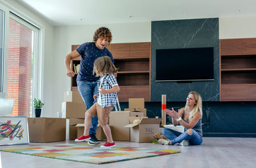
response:
{"label": "black flat-screen television mounted on dark marble panel", "polygon": [[213,47],[156,50],[156,81],[214,80]]}

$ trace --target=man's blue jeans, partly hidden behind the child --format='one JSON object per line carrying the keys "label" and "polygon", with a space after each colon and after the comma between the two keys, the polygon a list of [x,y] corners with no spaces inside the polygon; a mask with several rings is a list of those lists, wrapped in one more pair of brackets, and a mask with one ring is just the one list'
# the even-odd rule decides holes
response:
{"label": "man's blue jeans, partly hidden behind the child", "polygon": [[[93,105],[93,95],[98,93],[97,81],[76,81],[77,88],[81,94],[86,109],[90,109]],[[92,125],[90,127],[89,134],[96,134],[96,129],[98,125],[98,116],[92,117]]]}

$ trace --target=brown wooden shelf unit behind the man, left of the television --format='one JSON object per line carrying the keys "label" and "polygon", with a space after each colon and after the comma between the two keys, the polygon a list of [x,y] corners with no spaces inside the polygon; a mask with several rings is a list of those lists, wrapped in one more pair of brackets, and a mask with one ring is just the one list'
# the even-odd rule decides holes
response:
{"label": "brown wooden shelf unit behind the man, left of the television", "polygon": [[[72,50],[77,46],[72,45]],[[120,86],[118,100],[128,102],[129,98],[144,98],[146,102],[150,101],[150,42],[114,43],[107,48],[119,68],[116,78]],[[72,60],[73,69],[80,59]],[[77,91],[76,76],[71,79],[71,90],[74,91]]]}

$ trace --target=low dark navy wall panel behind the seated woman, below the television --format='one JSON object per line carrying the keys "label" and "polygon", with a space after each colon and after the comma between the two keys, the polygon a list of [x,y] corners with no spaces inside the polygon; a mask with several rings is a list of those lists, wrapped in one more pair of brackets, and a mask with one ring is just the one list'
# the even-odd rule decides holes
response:
{"label": "low dark navy wall panel behind the seated woman, below the television", "polygon": [[[185,104],[186,101],[167,102],[166,108],[182,108]],[[124,110],[129,103],[120,102],[120,106]],[[149,118],[161,118],[161,102],[145,102],[145,108]],[[209,118],[206,111],[209,111]],[[203,102],[203,136],[256,137],[255,118],[256,102]],[[171,123],[171,118],[166,122]]]}

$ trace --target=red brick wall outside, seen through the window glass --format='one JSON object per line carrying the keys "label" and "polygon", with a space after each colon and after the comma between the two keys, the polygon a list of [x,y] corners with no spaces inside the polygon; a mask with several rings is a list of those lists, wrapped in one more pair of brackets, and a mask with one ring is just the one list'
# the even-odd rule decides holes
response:
{"label": "red brick wall outside, seen through the window glass", "polygon": [[7,95],[15,99],[14,116],[31,115],[32,36],[31,29],[10,18]]}

